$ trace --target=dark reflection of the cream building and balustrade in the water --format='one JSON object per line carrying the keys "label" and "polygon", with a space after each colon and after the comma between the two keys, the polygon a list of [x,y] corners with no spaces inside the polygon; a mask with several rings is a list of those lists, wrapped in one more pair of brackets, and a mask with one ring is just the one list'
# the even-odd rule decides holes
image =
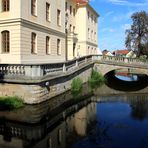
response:
{"label": "dark reflection of the cream building and balustrade in the water", "polygon": [[[52,120],[44,119],[43,123],[26,125],[22,122],[0,119],[0,147],[65,148],[66,143],[74,140],[75,134],[85,136],[89,125],[95,121],[96,103],[86,104],[87,101],[84,101],[69,107]],[[72,115],[66,117],[66,112]]]}

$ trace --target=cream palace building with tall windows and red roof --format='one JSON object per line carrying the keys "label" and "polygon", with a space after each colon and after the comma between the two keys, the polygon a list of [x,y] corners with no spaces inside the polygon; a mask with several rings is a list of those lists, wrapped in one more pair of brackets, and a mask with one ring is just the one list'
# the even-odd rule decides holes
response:
{"label": "cream palace building with tall windows and red roof", "polygon": [[97,54],[98,16],[87,0],[0,0],[0,64]]}

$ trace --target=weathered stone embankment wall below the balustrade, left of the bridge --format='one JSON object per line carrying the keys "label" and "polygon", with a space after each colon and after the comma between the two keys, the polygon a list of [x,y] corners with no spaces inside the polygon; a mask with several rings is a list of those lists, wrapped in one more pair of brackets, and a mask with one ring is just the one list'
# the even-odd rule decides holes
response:
{"label": "weathered stone embankment wall below the balustrade, left of the bridge", "polygon": [[87,82],[92,68],[93,64],[38,84],[0,83],[0,96],[16,95],[27,104],[37,104],[68,91],[76,77],[82,79],[83,83]]}

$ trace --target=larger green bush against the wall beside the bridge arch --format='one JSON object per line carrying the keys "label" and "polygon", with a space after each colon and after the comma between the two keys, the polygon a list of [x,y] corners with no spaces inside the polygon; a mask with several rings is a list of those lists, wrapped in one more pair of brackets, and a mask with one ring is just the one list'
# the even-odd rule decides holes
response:
{"label": "larger green bush against the wall beside the bridge arch", "polygon": [[92,70],[91,77],[88,80],[89,86],[91,87],[91,89],[95,89],[95,88],[103,85],[105,83],[105,81],[106,80],[101,73],[99,73],[95,70]]}

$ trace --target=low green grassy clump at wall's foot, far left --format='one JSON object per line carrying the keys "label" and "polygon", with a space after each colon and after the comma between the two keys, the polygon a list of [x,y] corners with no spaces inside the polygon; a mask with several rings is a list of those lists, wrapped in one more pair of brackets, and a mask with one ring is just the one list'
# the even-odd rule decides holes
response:
{"label": "low green grassy clump at wall's foot, far left", "polygon": [[23,105],[23,101],[17,96],[0,97],[0,110],[18,109]]}

